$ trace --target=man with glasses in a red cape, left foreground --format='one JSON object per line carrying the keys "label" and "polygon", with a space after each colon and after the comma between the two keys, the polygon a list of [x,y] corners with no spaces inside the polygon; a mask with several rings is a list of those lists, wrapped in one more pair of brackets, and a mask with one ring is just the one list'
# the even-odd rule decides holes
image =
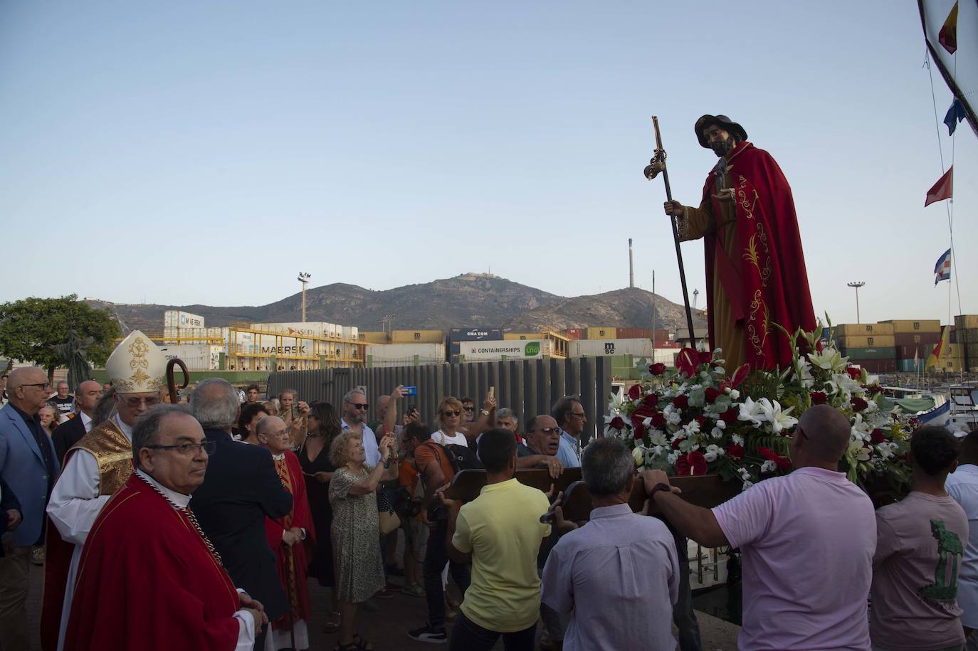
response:
{"label": "man with glasses in a red cape, left foreground", "polygon": [[235,588],[189,506],[208,445],[183,406],[161,405],[136,421],[136,472],[85,542],[66,651],[252,648],[263,608]]}

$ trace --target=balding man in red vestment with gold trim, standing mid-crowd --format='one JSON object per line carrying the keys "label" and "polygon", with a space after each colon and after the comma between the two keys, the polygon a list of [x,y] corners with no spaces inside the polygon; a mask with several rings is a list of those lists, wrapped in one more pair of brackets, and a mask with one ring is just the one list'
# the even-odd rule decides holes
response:
{"label": "balding man in red vestment with gold trim, standing mid-crowd", "polygon": [[[279,416],[266,416],[255,425],[259,445],[268,448],[283,486],[292,494],[292,510],[285,517],[265,518],[265,535],[275,553],[282,587],[289,598],[290,613],[272,622],[266,651],[283,648],[308,649],[307,622],[312,614],[306,572],[312,559],[315,526],[306,498],[305,478],[297,456],[289,451],[289,426]],[[294,640],[294,643],[293,643]]]}

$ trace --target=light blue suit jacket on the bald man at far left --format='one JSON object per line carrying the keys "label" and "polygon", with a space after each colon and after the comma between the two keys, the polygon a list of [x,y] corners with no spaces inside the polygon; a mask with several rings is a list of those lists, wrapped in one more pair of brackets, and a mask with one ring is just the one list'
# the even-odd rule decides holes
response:
{"label": "light blue suit jacket on the bald man at far left", "polygon": [[[55,474],[61,470],[54,444],[49,437]],[[21,414],[10,403],[0,410],[0,476],[21,500],[21,526],[14,530],[14,546],[37,542],[48,505],[48,471],[34,435],[27,429]]]}

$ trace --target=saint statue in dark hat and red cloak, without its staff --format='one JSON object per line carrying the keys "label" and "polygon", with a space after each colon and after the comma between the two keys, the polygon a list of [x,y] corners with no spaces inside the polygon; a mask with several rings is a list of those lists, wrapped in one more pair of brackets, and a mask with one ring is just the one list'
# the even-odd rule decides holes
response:
{"label": "saint statue in dark hat and red cloak, without its staff", "polygon": [[770,153],[747,142],[726,115],[703,115],[699,144],[720,158],[706,177],[699,207],[666,201],[680,239],[704,239],[710,348],[727,368],[786,369],[788,337],[816,327],[794,199]]}

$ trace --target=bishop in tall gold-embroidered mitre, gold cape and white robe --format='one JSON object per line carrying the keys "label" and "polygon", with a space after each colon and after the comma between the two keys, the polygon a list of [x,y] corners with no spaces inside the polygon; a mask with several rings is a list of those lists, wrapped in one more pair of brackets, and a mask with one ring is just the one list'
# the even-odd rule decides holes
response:
{"label": "bishop in tall gold-embroidered mitre, gold cape and white robe", "polygon": [[[58,651],[65,644],[82,545],[102,507],[132,474],[132,427],[136,417],[162,402],[161,392],[166,386],[166,359],[156,344],[139,330],[133,330],[112,351],[106,370],[115,388],[115,413],[67,452],[64,470],[48,503],[48,515],[57,533],[74,545],[66,568],[61,562],[64,554],[52,553],[57,542],[52,539],[56,537],[48,537],[45,585],[49,587],[44,592],[41,630],[42,634],[47,631],[50,635],[54,630],[59,631]],[[61,587],[64,592],[60,591]],[[55,624],[59,606],[60,627]]]}

